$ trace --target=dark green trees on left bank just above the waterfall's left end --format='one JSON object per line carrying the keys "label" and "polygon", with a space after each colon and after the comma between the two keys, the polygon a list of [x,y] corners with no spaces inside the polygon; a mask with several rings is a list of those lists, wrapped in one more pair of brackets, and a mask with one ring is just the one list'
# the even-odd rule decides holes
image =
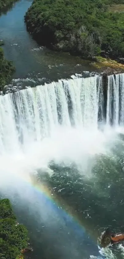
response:
{"label": "dark green trees on left bank just above the waterfall's left end", "polygon": [[2,90],[7,81],[10,80],[11,74],[14,70],[13,62],[6,60],[3,49],[0,48],[0,90]]}

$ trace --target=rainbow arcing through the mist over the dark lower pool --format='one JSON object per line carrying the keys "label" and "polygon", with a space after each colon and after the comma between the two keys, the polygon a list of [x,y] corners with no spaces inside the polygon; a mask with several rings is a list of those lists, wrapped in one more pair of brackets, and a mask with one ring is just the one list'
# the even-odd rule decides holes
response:
{"label": "rainbow arcing through the mist over the dark lower pool", "polygon": [[90,239],[92,239],[95,245],[97,244],[99,233],[97,231],[94,232],[94,230],[91,230],[93,229],[93,226],[90,226],[87,220],[79,217],[77,212],[74,211],[74,209],[69,206],[65,200],[63,200],[61,197],[58,197],[53,188],[50,188],[42,182],[39,182],[37,178],[34,178],[34,176],[31,177],[30,180],[25,179],[25,181],[30,188],[33,188],[33,190],[38,195],[40,195],[40,197],[42,195],[42,199],[46,200],[48,206],[52,207],[52,209],[56,211],[60,217],[63,217],[68,223],[71,222],[71,225],[74,226],[74,229],[77,228],[78,234],[81,236],[87,236],[90,234]]}

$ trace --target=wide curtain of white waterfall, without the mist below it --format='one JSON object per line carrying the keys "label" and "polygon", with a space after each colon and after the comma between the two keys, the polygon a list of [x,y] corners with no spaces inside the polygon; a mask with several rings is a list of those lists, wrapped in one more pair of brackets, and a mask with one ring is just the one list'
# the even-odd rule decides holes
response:
{"label": "wide curtain of white waterfall, without the mist below it", "polygon": [[[106,114],[103,88],[107,90]],[[0,97],[0,152],[50,136],[58,125],[124,124],[124,74],[59,80]]]}

